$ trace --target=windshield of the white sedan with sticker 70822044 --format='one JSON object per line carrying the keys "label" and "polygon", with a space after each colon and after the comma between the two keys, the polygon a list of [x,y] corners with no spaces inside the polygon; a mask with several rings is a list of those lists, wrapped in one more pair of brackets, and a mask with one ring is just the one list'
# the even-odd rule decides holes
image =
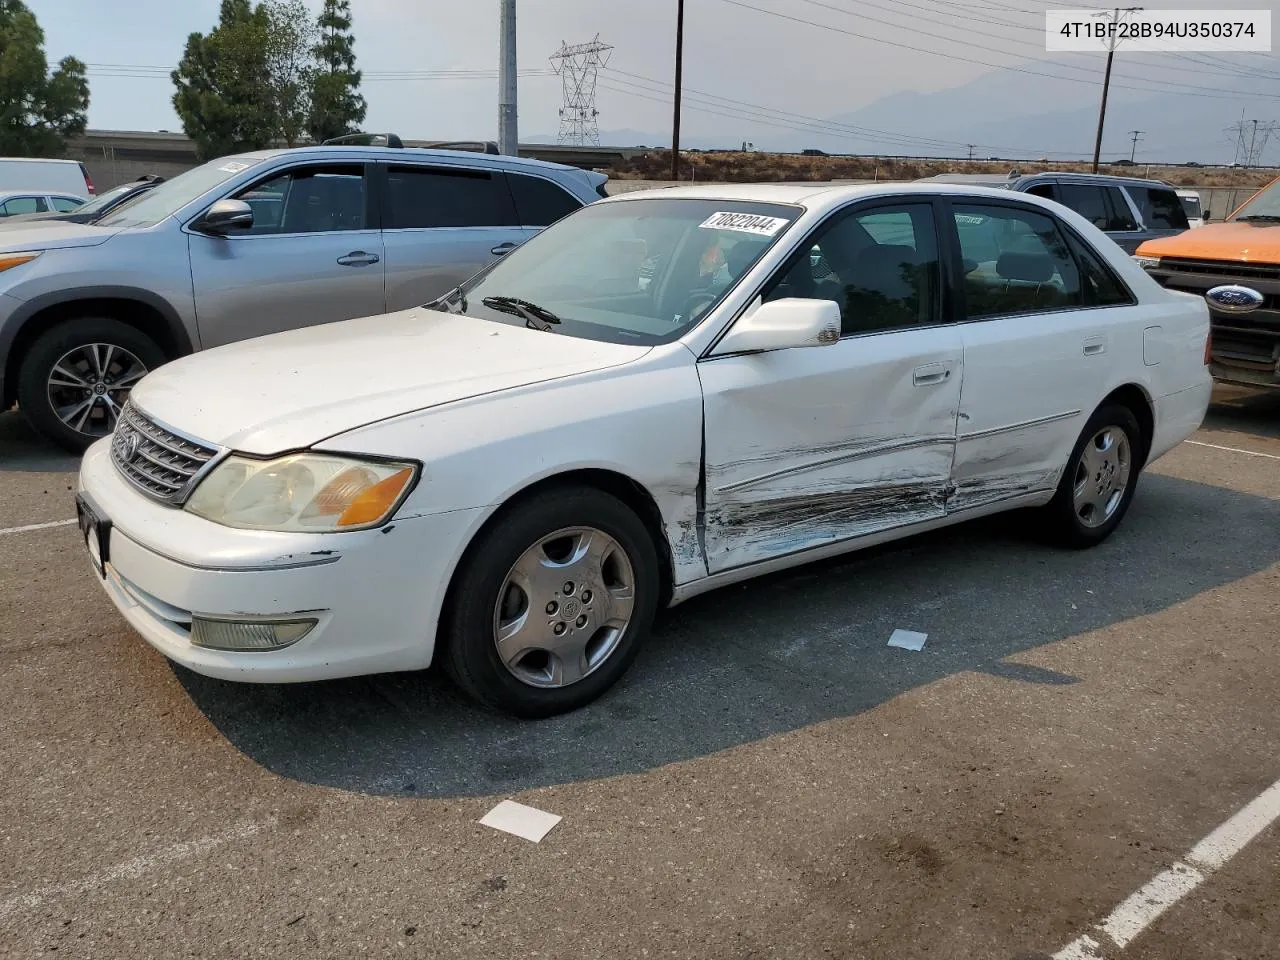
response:
{"label": "windshield of the white sedan with sticker 70822044", "polygon": [[726,200],[586,206],[433,306],[559,335],[669,343],[710,311],[801,212]]}

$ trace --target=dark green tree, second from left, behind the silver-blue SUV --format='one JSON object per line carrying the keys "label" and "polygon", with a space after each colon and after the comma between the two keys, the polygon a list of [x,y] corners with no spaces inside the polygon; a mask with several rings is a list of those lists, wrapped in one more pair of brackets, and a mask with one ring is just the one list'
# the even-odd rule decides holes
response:
{"label": "dark green tree, second from left, behind the silver-blue SUV", "polygon": [[178,69],[173,106],[202,160],[260,150],[280,129],[269,67],[270,19],[250,0],[223,0],[218,26],[192,33]]}

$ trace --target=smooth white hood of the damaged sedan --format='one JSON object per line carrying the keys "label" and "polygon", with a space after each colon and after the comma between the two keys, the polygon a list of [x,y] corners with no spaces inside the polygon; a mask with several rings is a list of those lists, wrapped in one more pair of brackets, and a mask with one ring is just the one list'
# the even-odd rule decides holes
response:
{"label": "smooth white hood of the damaged sedan", "polygon": [[133,402],[196,439],[279,453],[649,351],[415,307],[193,353],[143,378]]}

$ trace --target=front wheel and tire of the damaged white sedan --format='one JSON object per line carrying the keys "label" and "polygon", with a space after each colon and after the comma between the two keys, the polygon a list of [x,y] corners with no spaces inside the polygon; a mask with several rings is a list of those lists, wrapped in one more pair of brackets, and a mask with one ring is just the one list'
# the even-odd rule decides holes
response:
{"label": "front wheel and tire of the damaged white sedan", "polygon": [[444,668],[474,699],[516,717],[584,707],[640,652],[658,571],[649,531],[616,497],[534,494],[468,548],[442,618]]}

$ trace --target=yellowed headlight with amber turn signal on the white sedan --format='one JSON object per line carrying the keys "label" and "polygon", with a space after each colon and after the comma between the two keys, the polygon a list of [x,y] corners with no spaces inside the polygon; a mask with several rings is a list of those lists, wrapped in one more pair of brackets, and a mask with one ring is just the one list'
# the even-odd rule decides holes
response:
{"label": "yellowed headlight with amber turn signal on the white sedan", "polygon": [[416,476],[416,463],[323,453],[268,461],[233,456],[201,480],[186,509],[244,530],[364,530],[396,512]]}

